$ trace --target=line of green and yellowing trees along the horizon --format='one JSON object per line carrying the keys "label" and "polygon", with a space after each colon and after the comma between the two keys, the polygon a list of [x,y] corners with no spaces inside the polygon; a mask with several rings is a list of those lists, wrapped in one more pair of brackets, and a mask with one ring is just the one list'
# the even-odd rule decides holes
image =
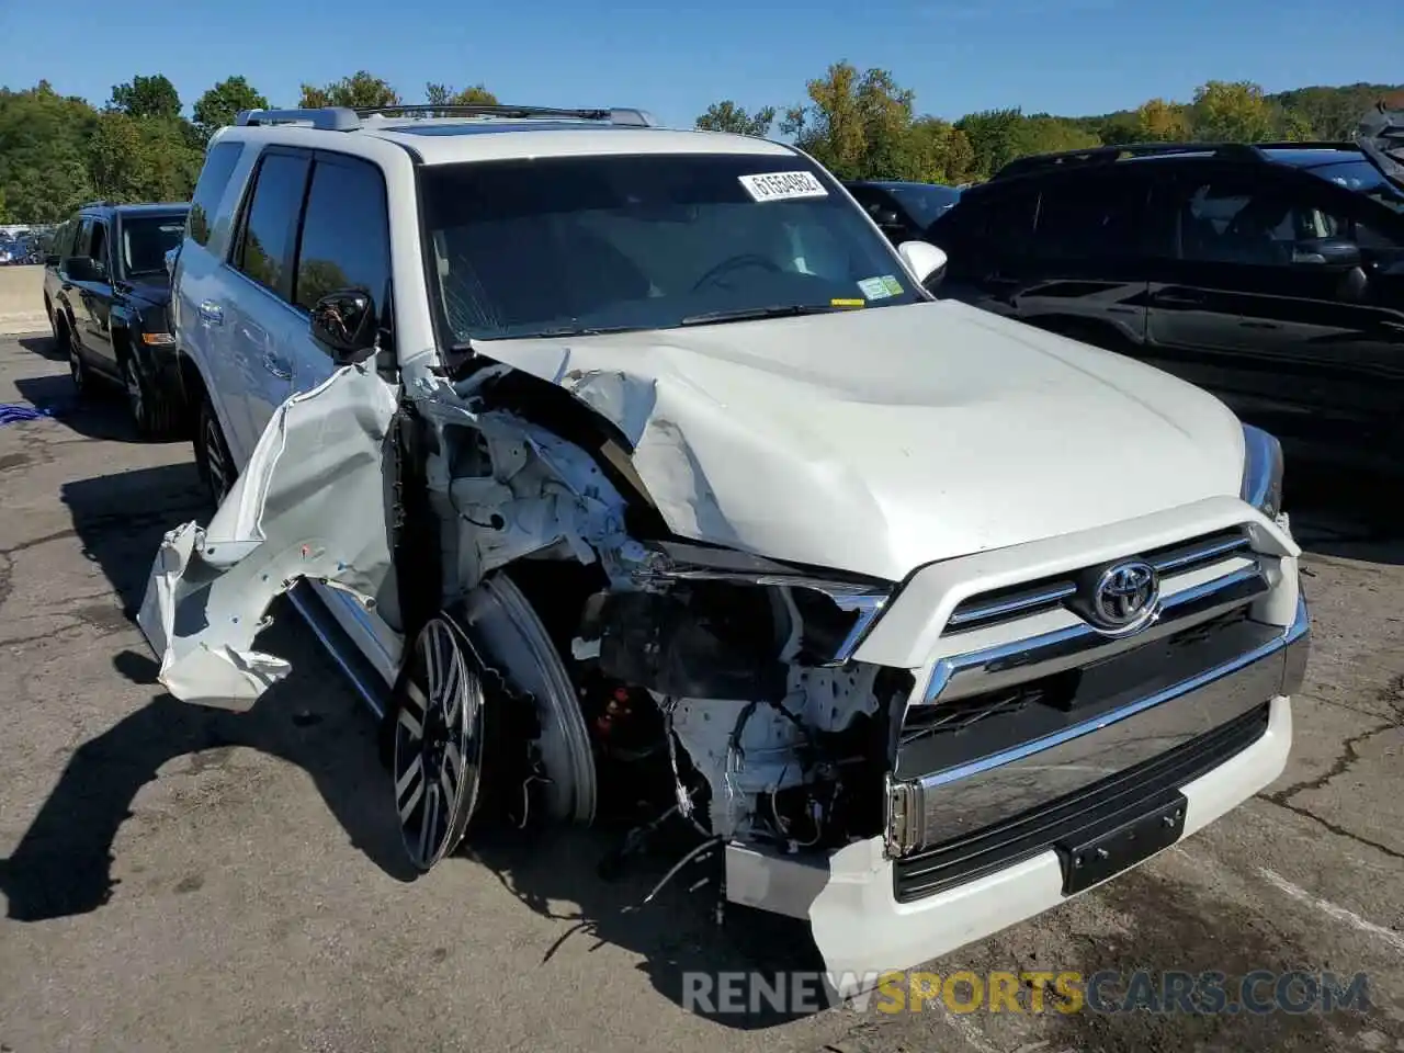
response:
{"label": "line of green and yellowing trees along the horizon", "polygon": [[[1050,150],[1168,140],[1341,140],[1360,115],[1404,86],[1306,87],[1266,94],[1247,81],[1209,81],[1188,102],[1153,98],[1136,110],[1099,117],[1054,117],[986,110],[959,121],[918,114],[915,94],[882,69],[840,62],[806,84],[804,100],[754,112],[723,100],[698,128],[792,139],[841,178],[896,178],[965,184],[988,178],[1007,161]],[[302,84],[296,105],[491,104],[483,84],[424,86],[421,100],[359,70],[329,84]],[[60,95],[49,81],[0,88],[0,220],[53,223],[86,201],[187,201],[209,136],[240,110],[268,107],[244,77],[209,87],[190,117],[176,86],[156,74],[115,84],[94,107]]]}

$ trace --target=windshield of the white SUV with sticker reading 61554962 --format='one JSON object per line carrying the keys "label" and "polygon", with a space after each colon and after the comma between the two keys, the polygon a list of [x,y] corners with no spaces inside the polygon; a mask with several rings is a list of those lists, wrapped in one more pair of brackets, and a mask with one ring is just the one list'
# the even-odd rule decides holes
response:
{"label": "windshield of the white SUV with sticker reading 61554962", "polygon": [[456,344],[925,299],[796,156],[632,154],[421,170]]}

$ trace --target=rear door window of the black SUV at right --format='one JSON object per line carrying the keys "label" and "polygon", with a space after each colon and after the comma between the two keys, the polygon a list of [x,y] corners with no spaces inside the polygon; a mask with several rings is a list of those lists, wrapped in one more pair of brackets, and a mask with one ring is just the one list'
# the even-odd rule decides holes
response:
{"label": "rear door window of the black SUV at right", "polygon": [[1146,185],[1137,178],[1075,177],[1039,197],[1032,251],[1060,260],[1111,260],[1140,254]]}

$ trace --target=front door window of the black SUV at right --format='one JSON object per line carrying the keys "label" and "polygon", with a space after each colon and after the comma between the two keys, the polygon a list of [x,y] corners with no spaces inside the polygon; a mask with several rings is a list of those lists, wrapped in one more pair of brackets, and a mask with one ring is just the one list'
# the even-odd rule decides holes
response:
{"label": "front door window of the black SUV at right", "polygon": [[1179,213],[1185,260],[1285,267],[1299,241],[1345,237],[1349,219],[1294,184],[1221,177],[1191,188]]}

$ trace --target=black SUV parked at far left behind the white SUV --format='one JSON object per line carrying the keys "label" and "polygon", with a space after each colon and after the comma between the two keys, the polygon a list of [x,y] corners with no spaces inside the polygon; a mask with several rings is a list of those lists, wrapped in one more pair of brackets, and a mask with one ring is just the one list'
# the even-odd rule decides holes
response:
{"label": "black SUV parked at far left behind the white SUV", "polygon": [[44,261],[44,309],[73,386],[83,396],[94,379],[119,383],[138,431],[153,438],[185,417],[166,253],[184,240],[188,211],[84,205],[55,232]]}

